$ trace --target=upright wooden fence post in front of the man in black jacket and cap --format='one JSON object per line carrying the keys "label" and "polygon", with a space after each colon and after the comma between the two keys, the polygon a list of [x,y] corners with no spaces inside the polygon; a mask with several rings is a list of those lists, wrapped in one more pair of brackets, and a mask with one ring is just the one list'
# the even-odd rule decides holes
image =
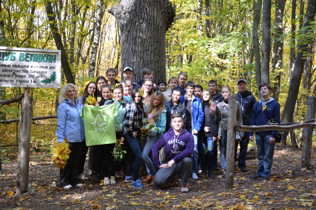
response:
{"label": "upright wooden fence post in front of the man in black jacket and cap", "polygon": [[235,152],[235,136],[234,126],[236,125],[236,96],[228,97],[228,127],[227,127],[227,146],[226,146],[226,180],[225,189],[234,187],[234,152]]}

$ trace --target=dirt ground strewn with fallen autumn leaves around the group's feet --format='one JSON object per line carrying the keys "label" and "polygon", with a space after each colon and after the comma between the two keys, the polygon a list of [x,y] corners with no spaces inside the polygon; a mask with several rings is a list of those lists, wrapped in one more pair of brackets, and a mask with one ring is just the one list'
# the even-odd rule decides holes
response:
{"label": "dirt ground strewn with fallen autumn leaves around the group's feet", "polygon": [[[312,150],[315,165],[316,150]],[[16,155],[17,156],[17,155]],[[274,153],[269,180],[249,178],[256,173],[258,160],[247,160],[248,172],[235,169],[234,188],[225,190],[222,171],[216,179],[199,176],[189,179],[188,193],[176,187],[157,188],[144,184],[143,189],[118,179],[115,185],[100,185],[95,176],[82,187],[65,190],[59,182],[59,170],[50,155],[36,154],[30,158],[29,184],[32,190],[15,194],[17,157],[2,159],[0,174],[0,209],[315,209],[316,172],[301,170],[301,149],[278,147]],[[218,156],[219,157],[219,156]],[[88,174],[87,162],[85,174]],[[52,188],[55,181],[57,188]],[[12,191],[12,192],[11,192]],[[13,193],[13,194],[12,194]],[[12,194],[12,195],[11,195]]]}

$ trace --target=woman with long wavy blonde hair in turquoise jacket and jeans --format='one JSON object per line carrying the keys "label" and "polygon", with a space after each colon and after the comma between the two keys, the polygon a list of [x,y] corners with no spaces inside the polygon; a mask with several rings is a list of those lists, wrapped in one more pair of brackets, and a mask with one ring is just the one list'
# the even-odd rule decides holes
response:
{"label": "woman with long wavy blonde hair in turquoise jacket and jeans", "polygon": [[155,128],[148,130],[148,137],[143,149],[143,161],[146,163],[148,171],[148,176],[143,181],[150,181],[151,184],[154,184],[156,170],[153,162],[149,158],[149,153],[166,129],[167,117],[164,95],[162,93],[155,92],[150,99],[150,103],[144,107],[144,110],[145,116],[149,120],[149,124],[155,125]]}

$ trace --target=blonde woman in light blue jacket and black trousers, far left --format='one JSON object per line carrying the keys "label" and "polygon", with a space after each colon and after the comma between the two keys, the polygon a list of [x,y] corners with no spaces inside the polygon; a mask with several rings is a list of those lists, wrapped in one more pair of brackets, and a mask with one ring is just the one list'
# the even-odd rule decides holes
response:
{"label": "blonde woman in light blue jacket and black trousers, far left", "polygon": [[82,148],[86,146],[84,124],[80,117],[82,107],[77,86],[65,84],[59,95],[56,128],[58,143],[62,143],[65,138],[71,143],[67,164],[60,168],[60,184],[65,189],[82,186],[78,180]]}

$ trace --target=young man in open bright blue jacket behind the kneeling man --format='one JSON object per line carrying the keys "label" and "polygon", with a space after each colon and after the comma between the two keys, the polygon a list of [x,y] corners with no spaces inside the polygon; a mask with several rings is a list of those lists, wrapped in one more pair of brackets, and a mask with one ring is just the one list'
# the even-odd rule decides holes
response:
{"label": "young man in open bright blue jacket behind the kneeling man", "polygon": [[195,84],[192,81],[185,83],[185,95],[180,98],[181,104],[186,109],[186,122],[185,129],[193,134],[194,137],[194,152],[192,157],[192,178],[198,179],[197,177],[197,161],[198,161],[198,150],[197,150],[197,133],[201,130],[204,112],[201,99],[193,95]]}

